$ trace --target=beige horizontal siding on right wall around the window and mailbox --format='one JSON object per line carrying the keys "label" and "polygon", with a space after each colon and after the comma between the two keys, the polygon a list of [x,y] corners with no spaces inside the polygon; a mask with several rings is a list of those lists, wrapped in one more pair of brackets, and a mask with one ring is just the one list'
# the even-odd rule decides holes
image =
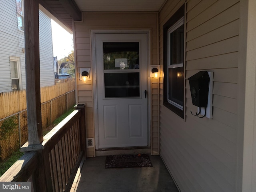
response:
{"label": "beige horizontal siding on right wall around the window and mailbox", "polygon": [[[168,0],[159,13],[162,27],[184,1]],[[179,6],[170,6],[179,5]],[[160,79],[160,155],[181,192],[234,192],[238,166],[238,49],[240,4],[237,0],[189,0],[186,4],[186,119],[162,105]],[[188,78],[213,72],[213,118],[198,118]]]}

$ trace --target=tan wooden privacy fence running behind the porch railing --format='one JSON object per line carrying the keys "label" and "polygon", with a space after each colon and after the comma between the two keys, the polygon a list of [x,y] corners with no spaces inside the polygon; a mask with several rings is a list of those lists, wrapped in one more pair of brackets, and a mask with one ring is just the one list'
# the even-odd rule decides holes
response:
{"label": "tan wooden privacy fence running behind the porch railing", "polygon": [[[42,87],[41,91],[42,128],[44,130],[50,126],[56,118],[74,106],[76,103],[76,96],[74,90],[74,81],[56,84],[55,86],[50,87]],[[13,104],[18,104],[19,102],[13,101],[15,100],[14,98],[22,98],[24,95],[26,98],[26,92],[24,94],[24,90],[20,91],[19,93],[10,92],[0,94],[0,103],[3,103],[3,100],[7,101],[7,96],[10,96],[10,99],[8,100],[8,104],[10,106],[8,107],[8,110],[5,110],[10,114],[17,111],[17,109],[13,107]],[[1,100],[1,96],[3,100]],[[22,108],[26,106],[26,100],[25,102],[20,103],[22,103],[20,104]],[[0,113],[1,112],[2,110],[0,110]],[[18,150],[20,146],[27,141],[28,126],[26,108],[8,117],[0,119],[0,160],[6,159],[10,154]]]}

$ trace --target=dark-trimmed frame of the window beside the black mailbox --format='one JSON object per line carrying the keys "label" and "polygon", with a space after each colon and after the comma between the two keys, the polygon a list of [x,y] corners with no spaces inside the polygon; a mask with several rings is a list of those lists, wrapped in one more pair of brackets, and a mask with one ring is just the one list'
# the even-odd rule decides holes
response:
{"label": "dark-trimmed frame of the window beside the black mailbox", "polygon": [[[172,100],[168,99],[168,87],[169,87],[169,69],[170,68],[180,68],[183,67],[183,74],[184,73],[184,62],[185,59],[183,59],[182,63],[179,64],[170,64],[170,39],[169,35],[174,32],[178,27],[182,26],[182,24],[185,24],[185,6],[182,5],[176,13],[164,24],[163,26],[163,55],[164,55],[164,100],[163,105],[166,106],[168,109],[172,110],[175,114],[180,116],[181,118],[184,118],[184,81],[185,76],[183,75],[183,104],[182,106],[176,102],[173,102]],[[184,29],[184,36],[185,36],[185,29]],[[185,42],[185,39],[184,39]],[[185,43],[184,43],[184,52],[183,56],[185,54]]]}

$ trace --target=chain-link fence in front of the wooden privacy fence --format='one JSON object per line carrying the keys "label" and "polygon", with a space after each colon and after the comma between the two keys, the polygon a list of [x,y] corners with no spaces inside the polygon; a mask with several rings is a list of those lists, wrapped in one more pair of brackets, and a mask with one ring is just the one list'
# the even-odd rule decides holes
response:
{"label": "chain-link fence in front of the wooden privacy fence", "polygon": [[[41,104],[42,129],[76,103],[75,90]],[[27,111],[0,120],[0,160],[6,159],[28,141]]]}

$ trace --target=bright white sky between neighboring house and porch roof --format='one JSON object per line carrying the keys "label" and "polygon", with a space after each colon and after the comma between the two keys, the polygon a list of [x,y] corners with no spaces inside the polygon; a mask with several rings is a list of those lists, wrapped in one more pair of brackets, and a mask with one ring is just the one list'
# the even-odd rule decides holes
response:
{"label": "bright white sky between neighboring house and porch roof", "polygon": [[52,20],[53,56],[58,60],[68,56],[73,48],[73,35]]}

